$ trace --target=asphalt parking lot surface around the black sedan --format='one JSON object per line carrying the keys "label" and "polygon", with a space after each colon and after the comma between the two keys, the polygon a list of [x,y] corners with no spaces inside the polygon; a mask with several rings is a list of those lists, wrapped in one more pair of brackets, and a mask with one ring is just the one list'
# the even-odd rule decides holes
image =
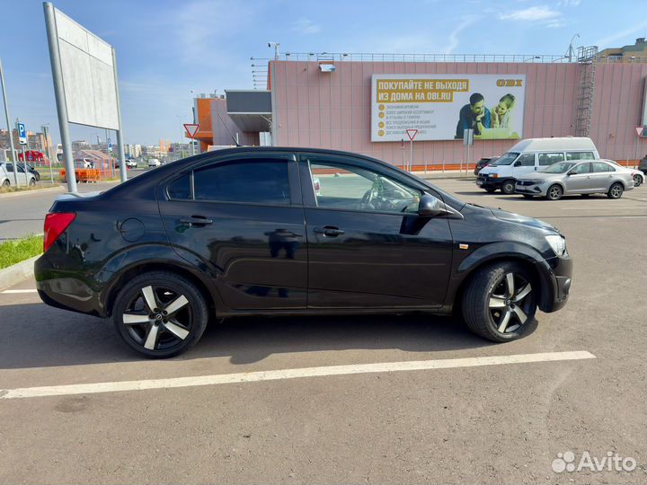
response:
{"label": "asphalt parking lot surface around the black sedan", "polygon": [[[646,482],[647,189],[435,183],[559,227],[569,304],[507,344],[451,318],[246,318],[149,361],[25,281],[0,292],[0,482]],[[567,452],[636,466],[554,472]]]}

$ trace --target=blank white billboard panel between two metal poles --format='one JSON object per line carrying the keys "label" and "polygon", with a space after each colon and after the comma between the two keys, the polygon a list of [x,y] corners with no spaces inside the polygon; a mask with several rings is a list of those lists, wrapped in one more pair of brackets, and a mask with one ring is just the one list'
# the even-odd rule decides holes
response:
{"label": "blank white billboard panel between two metal poles", "polygon": [[54,9],[67,120],[120,129],[112,47]]}

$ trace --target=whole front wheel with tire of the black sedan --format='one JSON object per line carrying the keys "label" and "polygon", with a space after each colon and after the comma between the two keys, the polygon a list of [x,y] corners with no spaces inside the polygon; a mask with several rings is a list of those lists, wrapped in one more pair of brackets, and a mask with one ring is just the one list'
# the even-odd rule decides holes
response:
{"label": "whole front wheel with tire of the black sedan", "polygon": [[517,340],[535,320],[534,287],[539,285],[530,271],[514,261],[479,269],[463,294],[467,327],[493,342]]}

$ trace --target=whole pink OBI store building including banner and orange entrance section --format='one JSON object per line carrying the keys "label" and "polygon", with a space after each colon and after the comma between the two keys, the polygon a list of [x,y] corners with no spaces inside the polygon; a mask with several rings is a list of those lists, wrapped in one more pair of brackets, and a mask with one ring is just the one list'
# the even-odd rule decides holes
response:
{"label": "whole pink OBI store building including banner and orange entrance section", "polygon": [[285,54],[267,63],[266,89],[194,100],[197,138],[203,151],[237,139],[397,165],[412,153],[414,165],[438,168],[465,162],[466,128],[474,129],[470,163],[529,137],[591,137],[604,158],[642,158],[647,59],[601,54]]}

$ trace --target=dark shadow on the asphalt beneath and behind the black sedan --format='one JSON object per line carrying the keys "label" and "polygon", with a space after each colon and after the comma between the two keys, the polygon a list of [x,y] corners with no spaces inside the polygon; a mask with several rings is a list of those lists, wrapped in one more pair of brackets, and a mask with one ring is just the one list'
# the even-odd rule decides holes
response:
{"label": "dark shadow on the asphalt beneath and behind the black sedan", "polygon": [[[144,358],[120,341],[110,320],[44,304],[0,306],[0,332],[0,369],[83,366]],[[400,349],[429,353],[495,345],[451,317],[240,317],[209,325],[194,348],[174,358],[228,357],[232,364],[242,365],[272,354],[296,352]]]}

